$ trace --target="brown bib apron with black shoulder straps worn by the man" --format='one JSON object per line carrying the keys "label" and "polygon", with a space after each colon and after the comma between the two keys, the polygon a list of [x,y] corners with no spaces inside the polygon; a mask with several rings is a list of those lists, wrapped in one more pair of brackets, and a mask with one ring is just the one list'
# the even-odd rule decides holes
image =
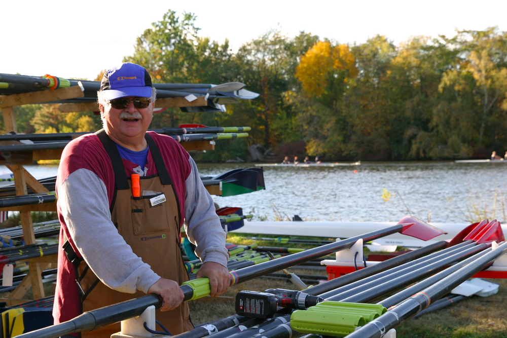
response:
{"label": "brown bib apron with black shoulder straps worn by the man", "polygon": [[[104,143],[103,136],[100,138]],[[123,187],[123,189],[120,189],[118,183],[119,180],[126,178],[125,169],[123,164],[121,166],[117,165],[117,161],[119,163],[122,163],[122,161],[119,159],[120,156],[116,146],[111,147],[111,144],[109,146],[104,144],[113,161],[117,182],[116,198],[111,207],[111,218],[120,235],[132,248],[132,251],[149,264],[153,271],[162,278],[175,280],[178,284],[182,284],[188,280],[188,275],[179,246],[180,215],[177,197],[171,182],[165,182],[169,184],[161,182],[163,180],[161,176],[164,176],[167,180],[169,174],[163,165],[155,142],[148,135],[147,141],[149,141],[150,151],[159,175],[140,178],[140,198],[132,197],[130,179],[127,179],[128,189],[125,189],[126,185],[121,186],[121,184],[120,187]],[[115,151],[116,154],[112,154]],[[123,170],[123,175],[120,172],[121,170]],[[161,174],[161,170],[165,172]],[[161,194],[165,195],[166,201],[152,206],[150,199]],[[121,264],[121,257],[118,257],[118,264]],[[84,261],[81,261],[78,272],[79,276],[84,273],[84,277],[80,279],[81,287],[85,292],[83,312],[144,295],[141,291],[130,294],[107,287],[98,280]],[[172,311],[157,311],[156,318],[172,335],[193,329],[189,307],[186,302]],[[161,328],[157,327],[157,330],[161,330]],[[82,332],[82,336],[106,338],[118,331],[120,331],[120,323],[89,332]]]}

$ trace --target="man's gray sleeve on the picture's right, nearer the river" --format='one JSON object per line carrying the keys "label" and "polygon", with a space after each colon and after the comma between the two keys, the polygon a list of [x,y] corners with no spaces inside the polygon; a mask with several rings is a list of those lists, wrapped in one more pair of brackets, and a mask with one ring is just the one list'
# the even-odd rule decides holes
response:
{"label": "man's gray sleeve on the picture's right, nearer the river", "polygon": [[226,267],[229,254],[225,247],[225,231],[192,157],[189,162],[192,171],[185,182],[185,231],[189,240],[196,244],[195,253],[203,262],[214,261]]}

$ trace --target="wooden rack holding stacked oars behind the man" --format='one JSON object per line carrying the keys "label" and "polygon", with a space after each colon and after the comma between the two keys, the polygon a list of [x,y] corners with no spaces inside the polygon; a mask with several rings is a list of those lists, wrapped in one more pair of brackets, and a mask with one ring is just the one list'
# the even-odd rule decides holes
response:
{"label": "wooden rack holding stacked oars behind the man", "polygon": [[[84,97],[84,89],[81,86],[72,86],[68,88],[59,88],[55,90],[34,91],[22,94],[13,94],[7,96],[0,95],[0,108],[4,119],[5,133],[17,133],[16,121],[14,117],[14,106],[24,104],[43,104],[47,102],[55,102],[65,99],[73,99]],[[155,106],[160,108],[170,107],[189,107],[189,106],[206,106],[207,101],[204,97],[198,97],[192,102],[185,98],[163,98],[156,101]],[[60,104],[62,112],[85,112],[97,111],[97,103],[68,103]],[[18,141],[1,141],[2,145],[23,144]],[[214,141],[195,141],[184,142],[182,145],[187,151],[205,151],[214,150]],[[31,151],[9,151],[0,152],[0,165],[5,165],[14,174],[14,182],[16,187],[16,195],[27,195],[27,187],[34,193],[48,193],[48,189],[44,187],[37,179],[35,179],[23,165],[30,165],[34,161],[39,160],[57,160],[60,159],[63,148],[58,149],[39,149]],[[0,208],[0,211],[19,211],[21,226],[25,244],[34,244],[35,236],[33,232],[33,222],[31,217],[32,211],[56,211],[56,202],[34,204],[19,207]],[[57,255],[49,255],[38,258],[28,259],[29,270],[26,277],[5,299],[8,305],[21,303],[21,299],[25,297],[26,292],[30,289],[33,291],[33,299],[40,299],[45,296],[42,271],[50,264],[56,264]]]}

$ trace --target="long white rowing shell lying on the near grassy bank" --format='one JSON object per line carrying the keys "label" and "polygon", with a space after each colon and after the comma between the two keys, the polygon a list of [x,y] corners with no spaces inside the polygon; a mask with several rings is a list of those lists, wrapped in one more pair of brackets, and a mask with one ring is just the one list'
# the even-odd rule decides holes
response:
{"label": "long white rowing shell lying on the near grassy bank", "polygon": [[[244,234],[263,234],[280,236],[309,236],[325,238],[350,238],[372,231],[394,226],[395,222],[333,222],[333,221],[247,221],[244,226],[233,232]],[[469,224],[465,223],[431,223],[447,235],[440,235],[429,241],[422,241],[400,233],[391,234],[374,242],[381,245],[402,247],[422,247],[442,240],[452,239]],[[504,232],[507,226],[502,226]]]}

